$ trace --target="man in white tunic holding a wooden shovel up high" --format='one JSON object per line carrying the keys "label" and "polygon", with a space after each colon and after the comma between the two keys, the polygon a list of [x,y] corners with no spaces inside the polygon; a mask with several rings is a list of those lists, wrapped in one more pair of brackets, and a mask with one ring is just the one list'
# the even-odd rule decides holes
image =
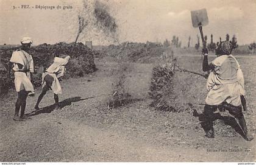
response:
{"label": "man in white tunic holding a wooden shovel up high", "polygon": [[[201,122],[202,128],[204,128],[207,138],[214,138],[214,112],[219,108],[220,110],[228,110],[239,123],[239,126],[243,132],[243,138],[247,141],[253,139],[252,136],[247,135],[246,121],[244,120],[240,94],[243,94],[243,82],[240,82],[239,71],[240,65],[236,61],[235,57],[231,55],[232,44],[229,41],[223,41],[219,43],[215,53],[217,58],[211,63],[208,63],[208,50],[204,40],[204,34],[202,32],[202,26],[208,24],[207,12],[205,9],[192,11],[191,18],[193,27],[199,27],[204,55],[202,69],[204,72],[208,72],[207,90],[208,94],[205,99],[204,107],[204,119]],[[242,99],[243,101],[243,99]],[[245,108],[244,108],[245,110]]]}

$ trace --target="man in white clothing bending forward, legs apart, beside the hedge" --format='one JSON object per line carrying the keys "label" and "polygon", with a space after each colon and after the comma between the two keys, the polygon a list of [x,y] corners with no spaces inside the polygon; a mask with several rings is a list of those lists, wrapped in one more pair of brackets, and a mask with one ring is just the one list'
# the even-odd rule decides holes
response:
{"label": "man in white clothing bending forward, legs apart, beside the hedge", "polygon": [[55,108],[59,108],[59,94],[62,94],[62,87],[60,86],[59,79],[63,77],[65,72],[65,65],[68,63],[70,56],[65,58],[54,57],[54,60],[49,63],[49,68],[46,66],[45,72],[42,75],[43,89],[35,104],[35,109],[39,110],[39,103],[48,90],[54,92]]}

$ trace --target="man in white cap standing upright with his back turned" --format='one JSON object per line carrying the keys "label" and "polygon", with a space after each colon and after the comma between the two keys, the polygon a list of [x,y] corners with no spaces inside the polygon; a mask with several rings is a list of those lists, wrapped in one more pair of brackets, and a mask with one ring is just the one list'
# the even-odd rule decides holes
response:
{"label": "man in white cap standing upright with his back turned", "polygon": [[[15,121],[27,119],[27,116],[24,115],[27,96],[34,96],[35,94],[34,86],[31,83],[32,73],[34,72],[34,62],[32,56],[28,53],[31,44],[31,38],[24,37],[21,39],[21,49],[13,52],[7,72],[7,77],[10,77],[10,70],[13,67],[15,89],[18,93],[18,99],[15,104],[15,114],[13,116],[13,120]],[[19,117],[20,110],[21,113]]]}

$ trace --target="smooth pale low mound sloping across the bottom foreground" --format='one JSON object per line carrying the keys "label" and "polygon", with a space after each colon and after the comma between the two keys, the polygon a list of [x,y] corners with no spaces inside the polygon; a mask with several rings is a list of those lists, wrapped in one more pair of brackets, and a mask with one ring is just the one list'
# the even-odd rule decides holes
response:
{"label": "smooth pale low mound sloping across the bottom foreground", "polygon": [[9,139],[12,144],[2,145],[1,161],[230,161],[238,156],[234,152],[148,144],[51,115],[41,116],[37,124],[31,122],[9,127],[16,136],[10,139],[3,135],[4,141]]}

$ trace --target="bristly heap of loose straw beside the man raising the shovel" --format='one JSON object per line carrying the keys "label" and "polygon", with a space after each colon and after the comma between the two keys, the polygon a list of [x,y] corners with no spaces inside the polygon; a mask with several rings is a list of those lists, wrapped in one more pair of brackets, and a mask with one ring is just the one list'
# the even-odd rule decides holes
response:
{"label": "bristly heap of loose straw beside the man raising the shovel", "polygon": [[[207,94],[205,78],[201,75],[183,72],[178,66],[182,61],[179,60],[178,63],[177,58],[173,58],[172,55],[169,57],[152,69],[149,88],[151,106],[157,110],[178,112],[191,110],[191,107],[201,108],[199,104],[204,102]],[[193,66],[193,62],[191,64],[186,63],[186,68]]]}

